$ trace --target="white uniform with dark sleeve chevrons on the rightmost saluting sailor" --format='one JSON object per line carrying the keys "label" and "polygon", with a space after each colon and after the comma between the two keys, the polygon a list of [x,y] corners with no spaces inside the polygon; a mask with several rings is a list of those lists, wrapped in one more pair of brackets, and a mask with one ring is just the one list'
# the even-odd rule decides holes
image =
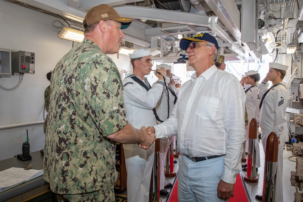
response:
{"label": "white uniform with dark sleeve chevrons on the rightmost saluting sailor", "polygon": [[[268,83],[261,82],[258,86],[258,97],[262,98],[268,88]],[[285,144],[285,124],[286,124],[286,107],[288,94],[285,87],[285,82],[280,82],[279,85],[271,88],[261,106],[260,112],[260,127],[261,140],[265,152],[266,139],[269,133],[275,132],[280,140],[278,149],[278,165],[277,165],[277,181],[276,181],[276,202],[283,201],[283,150]]]}

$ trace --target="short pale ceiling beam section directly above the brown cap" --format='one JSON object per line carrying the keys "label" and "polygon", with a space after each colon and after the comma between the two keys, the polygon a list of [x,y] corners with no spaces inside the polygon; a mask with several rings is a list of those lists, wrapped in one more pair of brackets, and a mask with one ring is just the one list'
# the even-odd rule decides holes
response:
{"label": "short pale ceiling beam section directly above the brown cap", "polygon": [[121,4],[128,4],[128,3],[134,3],[138,0],[78,0],[78,7],[77,9],[79,11],[88,11],[92,7],[100,4],[107,4],[110,6],[116,6]]}

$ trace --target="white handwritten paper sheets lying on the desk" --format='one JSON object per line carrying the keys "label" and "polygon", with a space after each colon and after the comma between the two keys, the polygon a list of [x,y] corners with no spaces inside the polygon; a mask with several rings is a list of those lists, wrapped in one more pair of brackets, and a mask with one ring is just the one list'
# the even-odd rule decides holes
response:
{"label": "white handwritten paper sheets lying on the desk", "polygon": [[43,170],[24,170],[24,168],[9,168],[0,172],[0,192],[15,187],[43,174]]}

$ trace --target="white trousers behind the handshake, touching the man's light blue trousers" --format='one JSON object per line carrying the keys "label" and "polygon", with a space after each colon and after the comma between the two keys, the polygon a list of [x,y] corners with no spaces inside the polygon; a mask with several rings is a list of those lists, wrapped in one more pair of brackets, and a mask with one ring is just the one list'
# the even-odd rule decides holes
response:
{"label": "white trousers behind the handshake, touching the man's light blue trousers", "polygon": [[166,139],[160,140],[160,190],[164,189],[164,186],[167,185],[164,174],[164,166],[166,163],[166,154],[169,148],[169,145],[174,140],[174,136],[170,136]]}

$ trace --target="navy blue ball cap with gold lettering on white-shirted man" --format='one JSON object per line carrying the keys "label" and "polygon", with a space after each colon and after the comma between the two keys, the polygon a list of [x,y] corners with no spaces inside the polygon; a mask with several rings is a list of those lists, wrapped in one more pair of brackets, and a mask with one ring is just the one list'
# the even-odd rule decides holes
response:
{"label": "navy blue ball cap with gold lettering on white-shirted man", "polygon": [[215,44],[215,47],[217,48],[217,50],[219,50],[218,41],[216,40],[215,37],[213,37],[212,35],[210,35],[208,33],[196,34],[193,38],[181,38],[180,48],[182,50],[186,50],[186,48],[188,48],[189,44],[192,41],[208,41],[208,42]]}

